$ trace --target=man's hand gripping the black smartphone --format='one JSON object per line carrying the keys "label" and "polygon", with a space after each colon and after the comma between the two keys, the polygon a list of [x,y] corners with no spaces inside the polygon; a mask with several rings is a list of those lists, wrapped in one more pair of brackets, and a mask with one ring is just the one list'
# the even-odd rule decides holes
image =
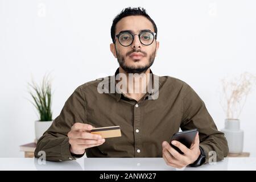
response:
{"label": "man's hand gripping the black smartphone", "polygon": [[180,154],[166,141],[162,143],[163,146],[163,159],[168,166],[175,168],[183,168],[189,164],[194,163],[200,155],[199,149],[199,133],[197,132],[195,140],[193,141],[190,148],[184,146],[184,144],[177,140],[172,141],[172,144],[178,147],[184,154]]}

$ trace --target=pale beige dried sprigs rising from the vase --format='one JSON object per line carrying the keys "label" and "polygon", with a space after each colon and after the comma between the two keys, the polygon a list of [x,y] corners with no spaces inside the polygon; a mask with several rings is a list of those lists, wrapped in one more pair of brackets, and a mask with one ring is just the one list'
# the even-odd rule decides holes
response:
{"label": "pale beige dried sprigs rising from the vase", "polygon": [[244,72],[239,79],[233,78],[233,80],[228,80],[224,78],[221,82],[224,93],[221,106],[225,111],[226,118],[238,119],[248,94],[251,92],[253,85],[256,84],[256,76]]}

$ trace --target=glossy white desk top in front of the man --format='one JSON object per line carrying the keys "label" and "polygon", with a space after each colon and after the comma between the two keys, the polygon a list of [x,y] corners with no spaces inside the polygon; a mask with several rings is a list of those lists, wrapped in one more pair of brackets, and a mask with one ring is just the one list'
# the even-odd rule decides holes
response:
{"label": "glossy white desk top in front of the man", "polygon": [[217,164],[182,169],[167,166],[163,158],[80,158],[66,162],[39,164],[37,158],[0,158],[0,170],[256,170],[256,158],[225,158]]}

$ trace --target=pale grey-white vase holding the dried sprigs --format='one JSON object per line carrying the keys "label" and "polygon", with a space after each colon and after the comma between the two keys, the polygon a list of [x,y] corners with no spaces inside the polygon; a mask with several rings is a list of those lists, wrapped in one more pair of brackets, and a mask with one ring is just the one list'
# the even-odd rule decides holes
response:
{"label": "pale grey-white vase holding the dried sprigs", "polygon": [[228,141],[229,153],[239,154],[243,151],[243,130],[239,119],[225,119],[225,128],[221,130]]}

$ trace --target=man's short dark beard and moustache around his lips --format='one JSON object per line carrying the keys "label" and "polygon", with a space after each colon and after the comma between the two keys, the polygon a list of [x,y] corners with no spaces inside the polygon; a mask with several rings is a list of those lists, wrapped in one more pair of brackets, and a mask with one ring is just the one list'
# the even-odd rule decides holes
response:
{"label": "man's short dark beard and moustache around his lips", "polygon": [[[155,50],[156,51],[156,50]],[[120,55],[119,52],[117,51],[117,48],[115,48],[115,52],[117,53],[117,61],[119,63],[119,66],[126,72],[126,73],[145,73],[147,71],[148,68],[151,67],[151,65],[154,63],[154,60],[155,60],[155,51],[149,56],[149,59],[148,59],[148,64],[147,65],[144,65],[144,66],[139,66],[139,67],[136,67],[134,65],[132,66],[128,66],[126,65],[125,63],[125,57]],[[141,52],[143,53],[143,55],[146,57],[147,56],[147,53],[146,52],[143,52],[141,50],[135,50],[133,49],[133,51],[129,51],[126,53],[126,56],[129,56],[131,53],[133,52]],[[135,60],[136,62],[139,61],[139,60]]]}

